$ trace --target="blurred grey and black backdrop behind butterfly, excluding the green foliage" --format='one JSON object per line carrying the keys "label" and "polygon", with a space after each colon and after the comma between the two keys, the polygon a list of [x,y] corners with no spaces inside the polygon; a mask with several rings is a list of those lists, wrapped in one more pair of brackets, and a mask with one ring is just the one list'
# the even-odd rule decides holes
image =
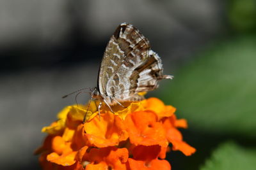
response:
{"label": "blurred grey and black backdrop behind butterfly, excluding the green foliage", "polygon": [[[118,24],[138,27],[163,59],[164,73],[172,74],[223,36],[225,5],[218,0],[1,0],[0,169],[40,168],[33,151],[45,137],[42,127],[75,103],[74,96],[61,96],[97,85],[104,48]],[[87,100],[86,94],[78,97],[79,103]]]}

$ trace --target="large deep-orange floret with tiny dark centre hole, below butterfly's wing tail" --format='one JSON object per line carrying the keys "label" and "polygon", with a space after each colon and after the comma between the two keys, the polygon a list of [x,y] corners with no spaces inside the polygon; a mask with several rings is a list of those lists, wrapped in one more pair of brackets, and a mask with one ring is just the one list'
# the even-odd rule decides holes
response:
{"label": "large deep-orange floret with tiny dark centre hole, below butterfly's wing tail", "polygon": [[166,132],[160,122],[156,122],[155,113],[137,111],[127,115],[125,125],[129,132],[130,141],[134,145],[161,145],[166,147],[168,141]]}

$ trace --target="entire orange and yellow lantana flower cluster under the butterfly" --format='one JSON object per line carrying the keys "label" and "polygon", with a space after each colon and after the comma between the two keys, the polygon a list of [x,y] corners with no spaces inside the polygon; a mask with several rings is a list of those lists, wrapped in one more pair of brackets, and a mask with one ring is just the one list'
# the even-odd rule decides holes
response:
{"label": "entire orange and yellow lantana flower cluster under the butterfly", "polygon": [[[175,108],[157,98],[113,106],[113,114],[97,103],[67,106],[58,120],[44,127],[48,135],[36,150],[43,169],[171,169],[166,152],[179,150],[189,156],[196,150],[182,140]],[[86,114],[86,122],[83,123]],[[170,146],[169,143],[171,144]]]}

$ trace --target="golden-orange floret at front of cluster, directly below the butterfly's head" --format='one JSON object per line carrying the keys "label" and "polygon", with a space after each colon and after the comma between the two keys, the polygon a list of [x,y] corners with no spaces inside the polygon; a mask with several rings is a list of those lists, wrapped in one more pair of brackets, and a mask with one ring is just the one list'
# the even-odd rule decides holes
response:
{"label": "golden-orange floret at front of cluster, directly below the butterfly's head", "polygon": [[123,120],[113,113],[104,113],[94,117],[90,122],[84,123],[84,138],[88,145],[103,148],[118,145],[120,141],[128,138]]}

